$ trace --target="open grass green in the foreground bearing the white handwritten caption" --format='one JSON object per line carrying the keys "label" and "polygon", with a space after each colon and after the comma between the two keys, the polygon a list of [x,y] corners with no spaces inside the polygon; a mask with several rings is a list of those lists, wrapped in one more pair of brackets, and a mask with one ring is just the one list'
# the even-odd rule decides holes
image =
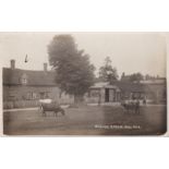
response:
{"label": "open grass green in the foreground bearing the white handwritten caption", "polygon": [[39,110],[3,113],[8,135],[160,135],[166,132],[166,106],[141,107],[126,113],[122,107],[86,106],[65,109],[65,116]]}

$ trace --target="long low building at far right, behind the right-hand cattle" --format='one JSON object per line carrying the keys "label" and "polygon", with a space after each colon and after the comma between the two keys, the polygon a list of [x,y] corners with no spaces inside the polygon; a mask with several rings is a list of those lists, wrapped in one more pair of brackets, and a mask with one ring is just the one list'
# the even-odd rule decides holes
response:
{"label": "long low building at far right, behind the right-hand cattle", "polygon": [[165,77],[150,77],[131,82],[130,75],[122,73],[121,81],[112,83],[121,89],[121,98],[146,98],[153,102],[167,101],[167,81]]}

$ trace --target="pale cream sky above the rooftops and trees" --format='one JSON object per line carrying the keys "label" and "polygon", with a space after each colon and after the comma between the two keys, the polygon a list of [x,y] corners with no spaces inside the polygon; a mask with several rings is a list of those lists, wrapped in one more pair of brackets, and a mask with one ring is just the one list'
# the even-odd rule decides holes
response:
{"label": "pale cream sky above the rooftops and trees", "polygon": [[[19,69],[43,70],[44,62],[48,62],[47,46],[59,34],[71,34],[97,70],[110,57],[119,76],[122,72],[166,76],[162,33],[0,33],[2,67],[10,67],[10,60],[14,59]],[[27,63],[24,62],[26,55]]]}

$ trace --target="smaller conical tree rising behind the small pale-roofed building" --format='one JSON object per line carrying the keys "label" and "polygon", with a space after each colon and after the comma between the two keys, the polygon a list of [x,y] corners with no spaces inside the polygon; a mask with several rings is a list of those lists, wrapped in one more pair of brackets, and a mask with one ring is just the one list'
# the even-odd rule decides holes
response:
{"label": "smaller conical tree rising behind the small pale-roofed building", "polygon": [[112,68],[111,59],[107,57],[105,63],[99,68],[99,79],[104,82],[118,80],[117,69]]}

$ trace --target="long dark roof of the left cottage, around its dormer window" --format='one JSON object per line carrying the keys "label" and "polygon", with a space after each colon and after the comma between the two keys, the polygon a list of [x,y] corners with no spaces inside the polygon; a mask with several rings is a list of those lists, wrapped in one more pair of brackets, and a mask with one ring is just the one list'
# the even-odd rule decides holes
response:
{"label": "long dark roof of the left cottage, around its dormer window", "polygon": [[32,71],[21,69],[3,68],[3,85],[20,85],[22,76],[27,77],[26,85],[55,86],[56,73],[51,71]]}

